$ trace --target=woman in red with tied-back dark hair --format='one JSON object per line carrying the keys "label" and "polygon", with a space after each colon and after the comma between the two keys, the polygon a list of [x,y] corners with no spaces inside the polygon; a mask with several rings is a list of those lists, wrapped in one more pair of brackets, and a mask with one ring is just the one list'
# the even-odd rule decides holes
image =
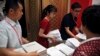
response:
{"label": "woman in red with tied-back dark hair", "polygon": [[55,42],[55,38],[53,36],[48,36],[47,34],[50,30],[50,20],[55,17],[56,12],[57,8],[53,5],[48,5],[42,11],[42,21],[40,22],[39,37],[37,38],[37,42],[46,48],[49,47],[48,39]]}

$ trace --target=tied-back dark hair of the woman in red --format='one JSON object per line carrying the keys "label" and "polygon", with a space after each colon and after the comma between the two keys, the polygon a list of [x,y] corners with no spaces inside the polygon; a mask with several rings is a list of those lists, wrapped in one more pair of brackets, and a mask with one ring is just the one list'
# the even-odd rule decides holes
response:
{"label": "tied-back dark hair of the woman in red", "polygon": [[47,16],[47,14],[50,14],[51,12],[57,12],[57,8],[53,5],[48,5],[43,9],[41,19],[43,19],[45,16]]}

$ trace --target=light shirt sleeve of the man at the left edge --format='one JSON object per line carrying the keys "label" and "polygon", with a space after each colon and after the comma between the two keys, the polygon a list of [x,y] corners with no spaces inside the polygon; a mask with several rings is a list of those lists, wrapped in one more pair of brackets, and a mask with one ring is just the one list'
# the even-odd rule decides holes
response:
{"label": "light shirt sleeve of the man at the left edge", "polygon": [[8,43],[8,37],[6,35],[6,30],[0,29],[0,47],[6,48]]}

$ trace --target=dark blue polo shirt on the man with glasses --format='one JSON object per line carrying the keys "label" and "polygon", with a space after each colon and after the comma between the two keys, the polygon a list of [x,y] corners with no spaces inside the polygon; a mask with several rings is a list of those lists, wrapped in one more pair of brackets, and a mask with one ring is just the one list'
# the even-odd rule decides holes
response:
{"label": "dark blue polo shirt on the man with glasses", "polygon": [[77,18],[76,17],[73,18],[71,13],[66,14],[63,17],[63,20],[61,22],[61,27],[60,27],[60,33],[63,40],[67,40],[68,38],[70,38],[70,35],[66,33],[65,27],[69,27],[70,31],[72,31],[76,26],[76,20]]}

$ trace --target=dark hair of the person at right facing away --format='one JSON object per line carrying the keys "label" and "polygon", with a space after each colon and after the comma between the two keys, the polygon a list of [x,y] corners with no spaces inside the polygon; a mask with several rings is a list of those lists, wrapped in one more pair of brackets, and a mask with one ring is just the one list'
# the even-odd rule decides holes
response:
{"label": "dark hair of the person at right facing away", "polygon": [[82,24],[92,33],[100,34],[100,5],[89,6],[83,11]]}

